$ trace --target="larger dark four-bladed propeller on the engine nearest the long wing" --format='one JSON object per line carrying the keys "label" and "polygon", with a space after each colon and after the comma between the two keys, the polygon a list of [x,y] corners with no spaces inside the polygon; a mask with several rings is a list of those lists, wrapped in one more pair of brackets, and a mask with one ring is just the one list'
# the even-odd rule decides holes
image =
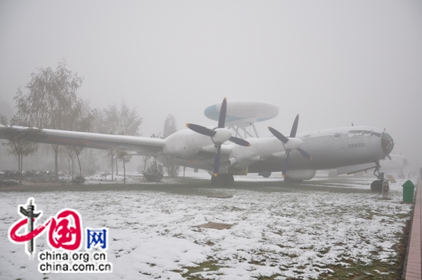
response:
{"label": "larger dark four-bladed propeller on the engine nearest the long wing", "polygon": [[226,142],[227,140],[236,143],[237,145],[241,145],[244,147],[249,147],[250,143],[242,138],[237,138],[232,136],[232,132],[224,128],[226,126],[226,113],[227,113],[227,99],[224,98],[222,102],[222,107],[220,108],[219,118],[218,118],[218,126],[215,129],[206,128],[205,126],[199,126],[198,124],[186,124],[186,126],[195,131],[196,133],[207,135],[212,138],[212,142],[215,142],[217,147],[217,152],[215,153],[214,159],[214,176],[217,177],[219,171],[219,163],[220,163],[220,154],[222,150],[222,143]]}

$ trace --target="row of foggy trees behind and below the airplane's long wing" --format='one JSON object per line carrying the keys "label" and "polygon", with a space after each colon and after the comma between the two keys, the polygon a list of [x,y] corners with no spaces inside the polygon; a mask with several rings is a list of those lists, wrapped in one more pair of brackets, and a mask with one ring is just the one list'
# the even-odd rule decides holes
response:
{"label": "row of foggy trees behind and below the airplane's long wing", "polygon": [[[1,124],[6,126],[4,133],[9,133],[7,143],[8,154],[14,154],[18,158],[18,171],[20,184],[22,184],[23,157],[37,152],[37,138],[40,137],[42,128],[52,128],[65,131],[97,132],[115,135],[139,135],[139,126],[142,118],[136,112],[136,108],[130,109],[122,100],[120,106],[108,105],[105,109],[91,109],[89,103],[77,95],[84,79],[77,73],[67,69],[65,60],[58,63],[53,70],[50,67],[41,68],[37,74],[31,74],[31,80],[25,86],[27,94],[18,88],[14,100],[17,113],[10,123],[1,116]],[[25,133],[15,133],[12,126],[37,127]],[[159,137],[153,135],[152,137]],[[48,145],[53,149],[55,162],[55,175],[58,180],[58,154],[63,152],[72,166],[72,178],[74,173],[74,159],[79,164],[79,175],[82,176],[82,166],[79,157],[84,152],[82,147],[60,147],[60,145]],[[110,148],[107,150],[110,156],[112,180],[114,165],[117,168],[117,160],[122,161],[124,169],[124,182],[126,181],[126,164],[132,154],[129,152]],[[144,162],[151,156],[144,156]],[[115,163],[116,161],[116,163]],[[156,161],[155,161],[156,162]]]}

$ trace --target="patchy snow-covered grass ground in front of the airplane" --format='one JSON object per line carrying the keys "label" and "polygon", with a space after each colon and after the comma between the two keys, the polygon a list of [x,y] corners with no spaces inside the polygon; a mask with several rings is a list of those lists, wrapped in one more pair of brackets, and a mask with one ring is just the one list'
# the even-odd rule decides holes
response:
{"label": "patchy snow-covered grass ground in front of the airplane", "polygon": [[[190,174],[191,175],[191,174]],[[197,174],[199,177],[203,174]],[[389,199],[371,192],[322,192],[265,187],[257,190],[212,189],[195,194],[146,190],[98,192],[1,192],[0,279],[184,279],[186,267],[215,262],[217,269],[196,272],[203,279],[317,279],[328,266],[350,262],[391,262],[397,234],[409,220],[411,204],[402,204],[402,184],[390,184]],[[260,182],[258,182],[260,181]],[[316,180],[315,185],[369,189],[372,179]],[[260,190],[262,189],[262,190]],[[232,195],[230,199],[207,194]],[[63,208],[82,215],[83,227],[108,227],[110,274],[41,274],[24,245],[8,240],[8,228],[20,219],[18,204],[34,197],[41,221]],[[207,222],[230,229],[197,227]],[[49,249],[46,234],[37,252]],[[378,272],[373,272],[377,274]]]}

